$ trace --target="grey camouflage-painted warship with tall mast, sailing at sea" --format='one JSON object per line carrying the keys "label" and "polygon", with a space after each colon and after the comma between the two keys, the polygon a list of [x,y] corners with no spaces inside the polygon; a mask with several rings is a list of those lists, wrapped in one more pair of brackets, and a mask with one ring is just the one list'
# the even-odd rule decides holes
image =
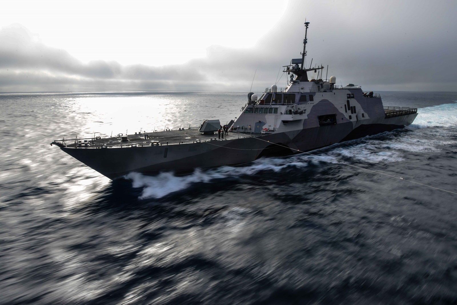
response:
{"label": "grey camouflage-painted warship with tall mast, sailing at sea", "polygon": [[[186,172],[306,152],[404,128],[414,121],[415,108],[383,107],[379,94],[363,92],[353,84],[337,86],[335,76],[322,79],[322,65],[305,67],[308,25],[305,22],[302,57],[284,66],[290,76],[287,87],[273,85],[260,98],[250,92],[242,113],[228,124],[223,139],[214,135],[220,128],[219,120],[205,120],[198,129],[62,139],[51,144],[115,179],[129,172]],[[308,79],[310,71],[318,73],[316,79]]]}

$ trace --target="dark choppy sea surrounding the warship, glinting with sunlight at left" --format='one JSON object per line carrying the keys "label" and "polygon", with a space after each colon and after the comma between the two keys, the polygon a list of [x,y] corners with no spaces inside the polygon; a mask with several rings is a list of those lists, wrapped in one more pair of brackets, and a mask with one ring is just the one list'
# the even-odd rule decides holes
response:
{"label": "dark choppy sea surrounding the warship, glinting with sunlight at left", "polygon": [[[457,93],[382,96],[420,108],[410,129],[315,153],[457,192]],[[1,94],[0,303],[457,303],[457,195],[308,155],[110,181],[49,145],[244,100]]]}

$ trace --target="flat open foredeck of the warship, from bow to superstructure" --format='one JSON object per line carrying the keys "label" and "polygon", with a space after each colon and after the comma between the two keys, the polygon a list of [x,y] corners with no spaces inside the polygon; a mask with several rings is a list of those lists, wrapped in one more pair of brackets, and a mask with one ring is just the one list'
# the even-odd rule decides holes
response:
{"label": "flat open foredeck of the warship, from bow to superstructure", "polygon": [[[197,128],[144,132],[141,134],[128,134],[127,140],[125,135],[108,137],[108,138],[80,138],[80,139],[61,139],[54,140],[51,144],[60,147],[69,148],[101,148],[101,147],[130,147],[130,146],[149,146],[149,145],[166,145],[166,144],[185,144],[205,141],[224,141],[230,139],[247,138],[250,136],[260,136],[254,133],[239,133],[229,131],[218,139],[218,133],[202,134]],[[124,139],[122,139],[124,137]]]}

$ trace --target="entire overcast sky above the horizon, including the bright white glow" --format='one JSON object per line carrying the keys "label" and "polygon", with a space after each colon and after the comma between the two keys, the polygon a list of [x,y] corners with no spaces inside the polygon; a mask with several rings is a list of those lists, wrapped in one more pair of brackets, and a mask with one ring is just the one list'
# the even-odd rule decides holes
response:
{"label": "entire overcast sky above the horizon, including the bright white glow", "polygon": [[300,57],[305,18],[307,63],[337,83],[457,91],[456,12],[455,0],[10,1],[0,91],[249,91],[255,70],[261,91]]}

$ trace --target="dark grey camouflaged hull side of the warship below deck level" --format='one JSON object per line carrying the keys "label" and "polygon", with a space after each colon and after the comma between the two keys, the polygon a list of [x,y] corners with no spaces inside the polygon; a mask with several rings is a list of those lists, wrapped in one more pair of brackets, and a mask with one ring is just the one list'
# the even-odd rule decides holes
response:
{"label": "dark grey camouflaged hull side of the warship below deck level", "polygon": [[[393,118],[370,118],[335,125],[318,126],[277,132],[273,134],[235,134],[224,140],[202,139],[199,143],[156,146],[128,146],[123,148],[61,149],[102,175],[115,179],[129,172],[154,174],[159,171],[186,172],[195,168],[237,165],[271,155],[278,144],[290,149],[282,154],[309,151],[342,141],[403,128],[414,121],[416,113]],[[168,133],[181,131],[169,131]],[[158,133],[157,133],[158,134]],[[200,136],[203,138],[203,135]]]}

